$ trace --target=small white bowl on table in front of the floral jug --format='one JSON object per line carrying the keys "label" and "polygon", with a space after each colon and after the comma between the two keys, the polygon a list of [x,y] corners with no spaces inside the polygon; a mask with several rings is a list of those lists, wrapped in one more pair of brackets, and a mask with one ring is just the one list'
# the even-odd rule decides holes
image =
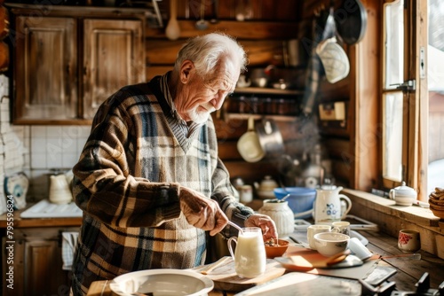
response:
{"label": "small white bowl on table in front of the floral jug", "polygon": [[321,232],[314,236],[314,245],[316,250],[326,257],[344,252],[347,249],[350,237],[336,232]]}

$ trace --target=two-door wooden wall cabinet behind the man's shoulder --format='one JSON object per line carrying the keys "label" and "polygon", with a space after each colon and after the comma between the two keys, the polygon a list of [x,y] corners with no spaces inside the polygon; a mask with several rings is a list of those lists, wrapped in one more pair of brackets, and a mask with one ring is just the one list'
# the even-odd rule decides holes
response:
{"label": "two-door wooden wall cabinet behind the man's shoulder", "polygon": [[145,81],[143,11],[11,11],[14,123],[91,124],[107,97]]}

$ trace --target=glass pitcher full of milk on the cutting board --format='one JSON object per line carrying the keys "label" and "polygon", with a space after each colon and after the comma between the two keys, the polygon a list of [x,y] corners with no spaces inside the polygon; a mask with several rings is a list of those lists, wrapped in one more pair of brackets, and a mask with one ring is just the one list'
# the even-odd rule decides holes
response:
{"label": "glass pitcher full of milk on the cutting board", "polygon": [[[233,253],[233,244],[236,244]],[[234,270],[239,277],[258,277],[266,271],[266,247],[258,227],[242,228],[239,237],[228,239],[228,251],[234,260]]]}

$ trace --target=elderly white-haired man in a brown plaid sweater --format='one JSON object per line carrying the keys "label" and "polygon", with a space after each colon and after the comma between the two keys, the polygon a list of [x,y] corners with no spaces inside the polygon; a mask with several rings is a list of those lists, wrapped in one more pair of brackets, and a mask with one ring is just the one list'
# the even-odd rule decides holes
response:
{"label": "elderly white-haired man in a brown plaid sweater", "polygon": [[124,87],[99,107],[73,169],[75,203],[83,209],[75,295],[134,270],[199,266],[206,232],[235,233],[229,220],[276,237],[268,216],[235,201],[210,117],[246,63],[230,36],[197,36],[172,71]]}

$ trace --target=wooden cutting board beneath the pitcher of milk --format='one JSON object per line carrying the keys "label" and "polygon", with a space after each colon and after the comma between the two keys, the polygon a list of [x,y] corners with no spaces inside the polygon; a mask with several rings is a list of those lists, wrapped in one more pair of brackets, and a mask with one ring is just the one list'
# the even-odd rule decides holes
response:
{"label": "wooden cutting board beneath the pitcher of milk", "polygon": [[[199,271],[199,269],[195,269]],[[207,277],[214,282],[214,289],[228,292],[240,292],[250,289],[258,284],[264,284],[276,277],[281,277],[285,273],[285,269],[281,263],[273,259],[266,260],[266,272],[259,277],[242,278],[236,275],[234,271],[234,261],[229,257],[226,264],[213,269]]]}

